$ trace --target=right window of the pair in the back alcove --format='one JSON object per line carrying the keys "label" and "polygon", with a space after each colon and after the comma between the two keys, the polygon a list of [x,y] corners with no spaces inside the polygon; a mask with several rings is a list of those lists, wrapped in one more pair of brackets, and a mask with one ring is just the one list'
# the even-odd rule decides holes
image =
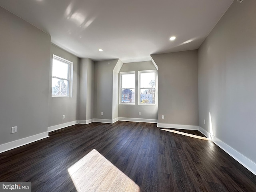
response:
{"label": "right window of the pair in the back alcove", "polygon": [[139,104],[156,104],[156,71],[139,71]]}

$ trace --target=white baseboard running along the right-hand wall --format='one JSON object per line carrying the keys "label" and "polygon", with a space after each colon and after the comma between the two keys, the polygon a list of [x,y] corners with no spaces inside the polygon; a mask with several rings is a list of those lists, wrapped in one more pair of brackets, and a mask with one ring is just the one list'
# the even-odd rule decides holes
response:
{"label": "white baseboard running along the right-hand wall", "polygon": [[[210,133],[204,130],[203,128],[199,127],[199,131],[210,138]],[[218,145],[222,150],[224,150],[227,154],[232,156],[235,160],[237,160],[240,164],[246,167],[250,172],[256,175],[256,163],[252,160],[248,159],[246,156],[241,154],[240,152],[236,151],[228,144],[224,143],[222,140],[218,139],[216,136],[213,136],[212,142]]]}

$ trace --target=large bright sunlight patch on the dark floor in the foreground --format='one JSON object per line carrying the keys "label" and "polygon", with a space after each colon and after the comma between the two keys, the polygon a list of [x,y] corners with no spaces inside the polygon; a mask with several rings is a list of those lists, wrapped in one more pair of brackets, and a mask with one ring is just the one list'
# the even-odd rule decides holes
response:
{"label": "large bright sunlight patch on the dark floor in the foreground", "polygon": [[128,176],[93,149],[68,168],[78,192],[140,192]]}

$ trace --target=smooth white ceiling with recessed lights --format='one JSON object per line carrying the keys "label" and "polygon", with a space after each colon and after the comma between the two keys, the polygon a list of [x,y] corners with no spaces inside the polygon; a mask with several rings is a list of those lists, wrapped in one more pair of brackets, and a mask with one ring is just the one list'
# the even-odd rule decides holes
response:
{"label": "smooth white ceiling with recessed lights", "polygon": [[[0,0],[80,58],[122,62],[193,50],[233,0]],[[176,40],[170,41],[171,36]],[[99,52],[98,49],[103,49]]]}

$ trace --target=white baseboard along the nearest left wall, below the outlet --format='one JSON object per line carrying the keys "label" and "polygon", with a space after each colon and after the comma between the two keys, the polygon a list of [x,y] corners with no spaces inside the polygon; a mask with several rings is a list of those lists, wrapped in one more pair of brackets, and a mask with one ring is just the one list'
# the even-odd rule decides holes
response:
{"label": "white baseboard along the nearest left wall, below the outlet", "polygon": [[48,132],[32,135],[0,145],[0,153],[49,137]]}

